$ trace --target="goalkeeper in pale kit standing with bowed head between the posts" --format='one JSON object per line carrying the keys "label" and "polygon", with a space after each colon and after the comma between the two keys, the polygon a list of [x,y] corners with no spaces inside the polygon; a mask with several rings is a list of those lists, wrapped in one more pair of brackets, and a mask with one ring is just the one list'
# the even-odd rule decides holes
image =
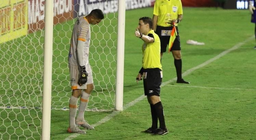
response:
{"label": "goalkeeper in pale kit standing with bowed head between the posts", "polygon": [[[89,15],[78,17],[73,28],[68,54],[68,66],[72,88],[72,96],[69,100],[69,127],[67,129],[70,133],[86,133],[77,126],[86,129],[94,129],[84,119],[85,109],[93,89],[92,70],[88,61],[91,38],[90,24],[98,25],[103,18],[103,12],[100,9],[94,9]],[[79,110],[75,120],[79,97]]]}

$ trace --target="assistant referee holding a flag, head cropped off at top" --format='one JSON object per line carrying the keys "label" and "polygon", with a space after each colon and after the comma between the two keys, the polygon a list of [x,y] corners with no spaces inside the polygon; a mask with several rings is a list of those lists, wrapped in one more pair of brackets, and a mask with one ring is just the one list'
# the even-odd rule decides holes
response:
{"label": "assistant referee holding a flag, head cropped off at top", "polygon": [[171,23],[175,23],[177,36],[171,48],[172,56],[174,57],[174,65],[177,73],[177,83],[189,84],[182,79],[181,69],[181,47],[178,23],[182,19],[182,4],[181,0],[156,0],[153,11],[153,30],[159,36],[161,41],[161,59],[163,53],[166,52],[166,47],[169,44],[170,34],[172,30]]}

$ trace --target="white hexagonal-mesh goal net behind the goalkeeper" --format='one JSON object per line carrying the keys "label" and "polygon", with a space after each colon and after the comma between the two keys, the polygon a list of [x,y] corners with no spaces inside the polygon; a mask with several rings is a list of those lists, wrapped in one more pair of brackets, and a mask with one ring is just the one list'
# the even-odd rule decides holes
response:
{"label": "white hexagonal-mesh goal net behind the goalkeeper", "polygon": [[[77,16],[95,8],[107,14],[99,26],[91,26],[89,62],[95,87],[88,109],[114,109],[117,0],[90,1],[54,0],[52,109],[68,109],[72,90],[67,57],[73,24]],[[0,139],[41,137],[44,3],[0,0]]]}

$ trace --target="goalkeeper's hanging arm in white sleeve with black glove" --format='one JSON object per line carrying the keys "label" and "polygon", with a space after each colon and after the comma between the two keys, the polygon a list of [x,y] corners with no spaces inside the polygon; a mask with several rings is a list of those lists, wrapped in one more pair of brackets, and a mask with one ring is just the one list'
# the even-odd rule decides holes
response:
{"label": "goalkeeper's hanging arm in white sleeve with black glove", "polygon": [[86,72],[86,65],[88,64],[88,54],[85,54],[85,52],[88,52],[88,50],[85,50],[86,47],[84,41],[78,40],[77,41],[77,59],[79,64],[79,78],[78,78],[78,84],[79,86],[82,86],[87,82],[88,73]]}

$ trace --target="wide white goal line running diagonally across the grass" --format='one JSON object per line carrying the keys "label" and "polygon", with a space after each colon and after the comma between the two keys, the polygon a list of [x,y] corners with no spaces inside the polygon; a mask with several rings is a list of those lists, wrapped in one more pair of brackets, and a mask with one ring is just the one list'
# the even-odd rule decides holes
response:
{"label": "wide white goal line running diagonally across the grass", "polygon": [[[195,70],[197,70],[197,69],[199,69],[199,68],[202,68],[202,67],[204,67],[204,66],[210,64],[211,62],[213,62],[213,61],[219,59],[220,57],[226,55],[227,53],[238,49],[238,48],[241,47],[243,44],[245,44],[246,42],[248,42],[248,41],[250,41],[250,40],[252,40],[252,39],[254,39],[254,38],[255,38],[255,36],[252,36],[252,37],[247,38],[245,41],[240,42],[240,43],[234,45],[232,48],[230,48],[230,49],[228,49],[228,50],[226,50],[226,51],[220,53],[219,55],[213,57],[212,59],[209,59],[209,60],[205,61],[204,63],[202,63],[202,64],[200,64],[200,65],[198,65],[198,66],[196,66],[196,67],[193,67],[193,68],[191,68],[191,69],[185,71],[184,73],[182,73],[182,76],[186,76],[186,75],[190,74],[191,72],[193,72],[193,71],[195,71]],[[176,80],[176,78],[173,78],[173,79],[170,79],[170,80],[168,80],[168,81],[166,81],[166,82],[163,82],[162,85],[161,85],[161,87],[163,87],[163,86],[165,86],[165,85],[167,85],[167,84],[169,84],[170,82],[175,81],[175,80]],[[134,104],[136,104],[137,102],[141,101],[141,100],[144,99],[144,98],[146,98],[146,96],[141,95],[139,98],[137,98],[137,99],[131,101],[130,103],[126,104],[126,105],[124,106],[123,110],[126,110],[127,108],[133,106]],[[96,126],[99,126],[99,125],[101,125],[101,124],[103,124],[103,123],[109,121],[112,117],[114,117],[115,115],[117,115],[119,112],[120,112],[120,111],[114,111],[112,114],[107,115],[106,117],[102,118],[98,123],[93,124],[92,126],[96,127]],[[81,135],[81,134],[73,134],[73,135],[67,137],[65,140],[72,140],[73,138],[76,138],[76,137],[79,136],[79,135]]]}

